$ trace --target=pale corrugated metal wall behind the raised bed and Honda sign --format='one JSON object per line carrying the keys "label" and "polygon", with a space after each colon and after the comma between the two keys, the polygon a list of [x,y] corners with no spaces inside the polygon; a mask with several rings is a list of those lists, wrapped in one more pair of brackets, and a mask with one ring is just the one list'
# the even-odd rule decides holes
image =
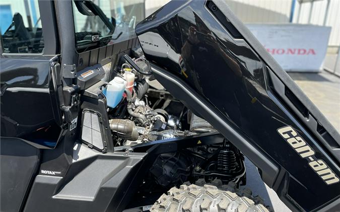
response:
{"label": "pale corrugated metal wall behind the raised bed and Honda sign", "polygon": [[[169,0],[145,0],[146,16],[168,2]],[[297,0],[226,0],[226,2],[244,23],[289,23],[292,3],[295,2],[293,23],[307,24],[311,6],[311,3],[301,4],[300,17],[297,21],[299,10]],[[315,1],[313,4],[311,24],[322,25],[327,0]],[[339,46],[340,0],[330,0],[326,26],[332,27],[328,45]]]}

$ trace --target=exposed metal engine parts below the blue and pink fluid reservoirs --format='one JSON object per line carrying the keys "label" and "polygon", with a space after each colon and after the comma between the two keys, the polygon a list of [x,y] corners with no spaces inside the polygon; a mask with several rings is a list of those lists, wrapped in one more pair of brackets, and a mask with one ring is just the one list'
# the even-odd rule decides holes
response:
{"label": "exposed metal engine parts below the blue and pink fluid reservoirs", "polygon": [[160,86],[156,80],[136,84],[138,91],[133,89],[133,95],[126,94],[126,101],[108,112],[115,147],[216,132],[169,92],[153,87]]}

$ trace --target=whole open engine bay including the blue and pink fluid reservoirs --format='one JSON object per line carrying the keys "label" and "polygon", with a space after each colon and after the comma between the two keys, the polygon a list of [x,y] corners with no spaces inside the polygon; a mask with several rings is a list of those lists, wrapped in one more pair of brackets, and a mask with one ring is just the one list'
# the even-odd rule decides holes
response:
{"label": "whole open engine bay including the blue and pink fluid reservoirs", "polygon": [[[150,66],[143,57],[133,62]],[[143,75],[128,63],[123,63],[113,80],[101,89],[108,105],[114,147],[216,132],[152,75]]]}

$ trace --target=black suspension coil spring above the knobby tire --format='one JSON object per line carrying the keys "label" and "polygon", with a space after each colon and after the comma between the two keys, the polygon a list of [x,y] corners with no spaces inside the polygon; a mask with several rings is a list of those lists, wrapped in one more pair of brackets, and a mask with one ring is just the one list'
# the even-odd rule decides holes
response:
{"label": "black suspension coil spring above the knobby tire", "polygon": [[217,170],[223,172],[232,172],[236,169],[236,155],[234,151],[228,149],[220,150],[217,157]]}

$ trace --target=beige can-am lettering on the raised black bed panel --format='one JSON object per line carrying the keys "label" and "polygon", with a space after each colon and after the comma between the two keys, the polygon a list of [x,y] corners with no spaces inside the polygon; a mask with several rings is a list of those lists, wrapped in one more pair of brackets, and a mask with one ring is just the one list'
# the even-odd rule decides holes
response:
{"label": "beige can-am lettering on the raised black bed panel", "polygon": [[300,157],[307,159],[308,165],[327,184],[337,183],[339,178],[328,168],[327,164],[317,159],[314,150],[303,140],[303,138],[291,127],[286,126],[278,129],[278,133],[293,147]]}

